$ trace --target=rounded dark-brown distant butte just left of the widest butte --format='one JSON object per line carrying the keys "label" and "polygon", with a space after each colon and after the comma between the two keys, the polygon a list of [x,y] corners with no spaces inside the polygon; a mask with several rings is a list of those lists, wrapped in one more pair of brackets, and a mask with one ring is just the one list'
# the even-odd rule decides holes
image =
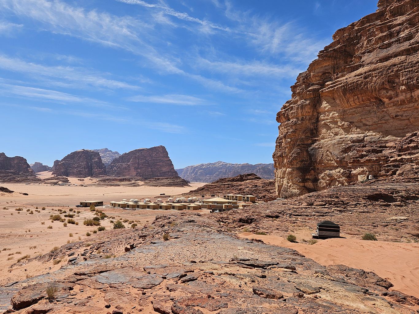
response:
{"label": "rounded dark-brown distant butte just left of the widest butte", "polygon": [[99,177],[106,175],[106,168],[98,152],[81,149],[60,160],[52,174],[74,178]]}

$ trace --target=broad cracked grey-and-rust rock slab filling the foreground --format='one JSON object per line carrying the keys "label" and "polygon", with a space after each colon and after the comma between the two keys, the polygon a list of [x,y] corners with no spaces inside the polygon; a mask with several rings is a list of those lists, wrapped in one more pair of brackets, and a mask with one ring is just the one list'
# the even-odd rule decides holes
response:
{"label": "broad cracked grey-and-rust rock slab filling the foreground", "polygon": [[[160,241],[165,232],[171,238]],[[367,288],[354,284],[363,271],[326,268],[292,249],[239,239],[200,214],[164,214],[142,228],[110,230],[105,239],[89,241],[87,250],[84,242],[73,242],[26,262],[50,263],[74,253],[59,270],[14,283],[19,291],[10,293],[13,307],[35,313],[48,304],[45,289],[52,284],[60,288],[53,311],[65,305],[70,313],[413,314],[404,305],[417,302],[388,291],[374,273],[362,273],[367,279],[360,284]],[[135,248],[124,252],[132,243]],[[116,257],[105,258],[109,254]],[[278,267],[284,265],[295,270]]]}

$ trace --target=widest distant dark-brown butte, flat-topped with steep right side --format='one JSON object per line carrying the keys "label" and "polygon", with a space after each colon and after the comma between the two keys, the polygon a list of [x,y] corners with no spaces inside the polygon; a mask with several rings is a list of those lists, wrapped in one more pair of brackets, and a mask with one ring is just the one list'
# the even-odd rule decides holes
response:
{"label": "widest distant dark-brown butte, flat-topped with steep right side", "polygon": [[108,175],[117,177],[177,177],[164,146],[140,148],[122,154],[112,160],[107,168]]}

